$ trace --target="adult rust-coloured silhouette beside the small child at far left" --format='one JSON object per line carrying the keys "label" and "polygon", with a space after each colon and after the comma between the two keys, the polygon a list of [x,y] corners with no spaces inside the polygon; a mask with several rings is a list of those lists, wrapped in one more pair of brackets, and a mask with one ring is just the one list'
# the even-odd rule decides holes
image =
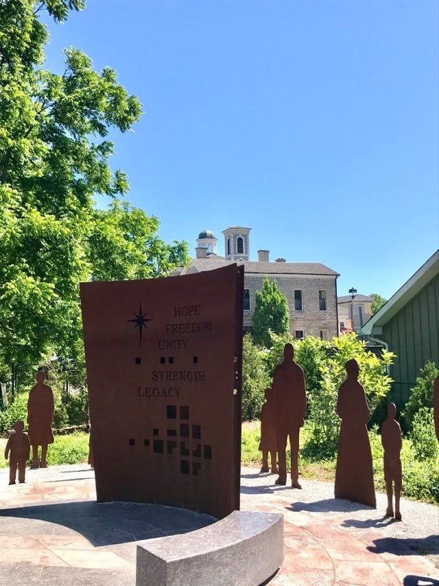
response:
{"label": "adult rust-coloured silhouette beside the small child at far left", "polygon": [[[54,443],[51,425],[54,418],[54,394],[44,384],[43,370],[36,374],[36,385],[32,387],[27,401],[27,423],[29,440],[32,445],[32,468],[47,468],[47,446]],[[41,460],[38,463],[38,446],[41,446]]]}

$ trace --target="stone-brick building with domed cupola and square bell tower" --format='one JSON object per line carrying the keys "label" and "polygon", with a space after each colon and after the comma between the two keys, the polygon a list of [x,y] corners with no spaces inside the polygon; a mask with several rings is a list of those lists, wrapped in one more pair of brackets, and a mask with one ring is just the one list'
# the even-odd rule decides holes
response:
{"label": "stone-brick building with domed cupola and square bell tower", "polygon": [[250,229],[232,226],[224,230],[225,256],[217,255],[217,238],[209,230],[200,232],[191,266],[178,269],[177,275],[211,271],[236,262],[244,265],[244,330],[252,328],[256,292],[268,277],[276,281],[287,297],[289,330],[296,338],[309,335],[331,339],[338,335],[338,273],[319,262],[270,262],[268,250],[258,251],[258,260],[250,260]]}

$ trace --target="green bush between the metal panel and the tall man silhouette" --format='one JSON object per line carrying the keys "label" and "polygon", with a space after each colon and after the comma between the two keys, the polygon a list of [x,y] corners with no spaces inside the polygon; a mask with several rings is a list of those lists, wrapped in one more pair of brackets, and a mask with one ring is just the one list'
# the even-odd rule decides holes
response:
{"label": "green bush between the metal panel and the tall man silhouette", "polygon": [[261,416],[264,391],[270,385],[263,351],[254,345],[250,334],[242,343],[242,418],[250,421]]}

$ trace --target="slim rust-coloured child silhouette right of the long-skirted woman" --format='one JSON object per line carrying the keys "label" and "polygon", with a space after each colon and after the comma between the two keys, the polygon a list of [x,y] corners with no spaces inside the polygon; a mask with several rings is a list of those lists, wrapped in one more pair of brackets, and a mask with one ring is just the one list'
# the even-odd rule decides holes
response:
{"label": "slim rust-coloured child silhouette right of the long-skirted woman", "polygon": [[[384,480],[385,490],[387,492],[387,510],[386,517],[395,517],[401,521],[401,511],[399,510],[399,499],[401,497],[401,485],[403,475],[401,472],[401,448],[403,447],[403,438],[401,436],[401,427],[395,420],[396,405],[389,403],[387,407],[388,418],[383,422],[381,427],[381,444],[384,448]],[[395,509],[393,510],[393,491],[392,484],[395,487]]]}

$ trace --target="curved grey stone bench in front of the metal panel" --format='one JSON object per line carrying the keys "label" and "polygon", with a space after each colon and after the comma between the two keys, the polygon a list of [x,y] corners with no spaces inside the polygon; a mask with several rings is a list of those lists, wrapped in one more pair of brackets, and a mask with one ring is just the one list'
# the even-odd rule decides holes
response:
{"label": "curved grey stone bench in front of the metal panel", "polygon": [[189,533],[137,545],[137,586],[257,586],[283,563],[283,515],[233,511]]}

